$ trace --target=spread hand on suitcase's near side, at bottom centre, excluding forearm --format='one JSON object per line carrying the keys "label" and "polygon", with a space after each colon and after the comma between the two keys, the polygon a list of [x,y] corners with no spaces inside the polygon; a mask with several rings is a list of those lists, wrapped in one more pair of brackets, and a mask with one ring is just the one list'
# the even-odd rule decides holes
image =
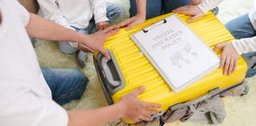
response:
{"label": "spread hand on suitcase's near side, at bottom centre, excluding forearm", "polygon": [[118,102],[122,106],[123,115],[122,117],[128,120],[134,120],[136,122],[146,120],[153,120],[148,115],[157,114],[158,111],[153,110],[153,108],[160,108],[161,104],[152,104],[138,100],[136,96],[143,92],[145,87],[140,87],[132,93],[123,96]]}

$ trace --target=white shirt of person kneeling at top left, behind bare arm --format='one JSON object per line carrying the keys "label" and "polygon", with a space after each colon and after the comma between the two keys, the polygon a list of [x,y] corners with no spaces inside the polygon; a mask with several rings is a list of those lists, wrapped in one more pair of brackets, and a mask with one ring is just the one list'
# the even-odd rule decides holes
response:
{"label": "white shirt of person kneeling at top left, behind bare arm", "polygon": [[38,0],[46,19],[60,26],[85,29],[94,15],[95,22],[108,21],[105,0]]}

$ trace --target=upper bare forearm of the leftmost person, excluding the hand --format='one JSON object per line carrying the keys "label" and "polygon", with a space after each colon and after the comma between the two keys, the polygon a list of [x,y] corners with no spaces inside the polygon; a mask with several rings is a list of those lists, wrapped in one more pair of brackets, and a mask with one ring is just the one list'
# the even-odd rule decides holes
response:
{"label": "upper bare forearm of the leftmost person, excluding the hand", "polygon": [[30,14],[30,22],[26,26],[26,32],[31,37],[51,41],[74,41],[82,43],[82,41],[90,39],[90,36],[88,35],[58,26],[57,24],[41,18],[36,14]]}

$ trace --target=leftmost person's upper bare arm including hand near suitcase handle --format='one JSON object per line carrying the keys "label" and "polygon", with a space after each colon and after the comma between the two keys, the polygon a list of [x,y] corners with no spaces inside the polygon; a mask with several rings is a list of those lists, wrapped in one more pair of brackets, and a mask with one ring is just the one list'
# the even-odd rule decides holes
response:
{"label": "leftmost person's upper bare arm including hand near suitcase handle", "polygon": [[40,39],[78,42],[86,45],[92,51],[100,51],[106,58],[110,59],[109,53],[107,53],[106,49],[103,49],[103,43],[107,37],[118,31],[116,28],[116,26],[111,26],[106,30],[86,35],[58,26],[36,14],[30,14],[30,22],[26,26],[26,32],[31,37]]}

